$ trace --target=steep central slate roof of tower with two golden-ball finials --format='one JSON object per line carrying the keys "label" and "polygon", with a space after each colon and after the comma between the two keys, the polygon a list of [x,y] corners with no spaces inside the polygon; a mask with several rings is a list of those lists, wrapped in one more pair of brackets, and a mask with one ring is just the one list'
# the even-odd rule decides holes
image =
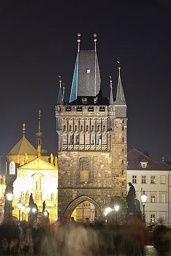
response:
{"label": "steep central slate roof of tower with two golden-ball finials", "polygon": [[80,36],[76,56],[71,94],[69,103],[97,103],[102,102],[100,72],[96,52],[96,34],[94,34],[95,50],[80,51]]}

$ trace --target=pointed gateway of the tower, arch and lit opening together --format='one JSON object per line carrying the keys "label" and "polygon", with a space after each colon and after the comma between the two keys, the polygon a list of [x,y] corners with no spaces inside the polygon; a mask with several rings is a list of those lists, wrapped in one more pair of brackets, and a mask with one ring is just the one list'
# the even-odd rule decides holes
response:
{"label": "pointed gateway of the tower, arch and lit opening together", "polygon": [[89,218],[91,223],[99,219],[104,219],[103,211],[98,203],[86,195],[75,198],[68,205],[64,217],[69,220],[71,216],[73,216],[77,222],[85,222],[86,218]]}

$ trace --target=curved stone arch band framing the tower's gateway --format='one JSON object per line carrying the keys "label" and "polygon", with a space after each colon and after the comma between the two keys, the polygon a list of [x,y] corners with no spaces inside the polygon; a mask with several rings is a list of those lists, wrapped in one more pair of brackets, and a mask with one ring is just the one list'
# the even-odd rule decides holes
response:
{"label": "curved stone arch band framing the tower's gateway", "polygon": [[98,205],[98,203],[86,196],[86,195],[82,195],[80,197],[77,197],[75,198],[66,208],[65,210],[65,213],[64,213],[64,218],[66,218],[67,220],[69,220],[71,218],[71,215],[72,215],[72,212],[75,210],[75,208],[80,205],[81,203],[83,203],[83,201],[89,201],[90,203],[94,204],[95,207],[97,208],[99,214],[100,214],[100,218],[104,218],[104,215],[103,215],[103,211],[102,211],[102,208],[100,208],[100,206]]}

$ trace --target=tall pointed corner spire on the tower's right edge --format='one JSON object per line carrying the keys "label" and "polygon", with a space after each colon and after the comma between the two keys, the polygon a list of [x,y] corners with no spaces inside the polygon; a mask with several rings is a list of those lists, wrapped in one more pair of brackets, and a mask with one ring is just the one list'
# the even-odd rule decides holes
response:
{"label": "tall pointed corner spire on the tower's right edge", "polygon": [[119,70],[119,76],[118,76],[118,85],[115,89],[115,93],[114,93],[114,104],[115,105],[126,105],[126,100],[125,100],[125,95],[123,92],[123,87],[122,87],[122,82],[121,82],[121,77],[120,77],[120,61],[117,61],[117,63],[119,64],[118,70]]}

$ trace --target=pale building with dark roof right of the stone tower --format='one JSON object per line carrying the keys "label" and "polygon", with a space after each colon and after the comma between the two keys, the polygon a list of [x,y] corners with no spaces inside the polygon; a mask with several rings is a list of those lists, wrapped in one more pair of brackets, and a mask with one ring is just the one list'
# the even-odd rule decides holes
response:
{"label": "pale building with dark roof right of the stone tower", "polygon": [[[136,190],[136,198],[141,202],[142,190],[147,195],[145,222],[162,222],[171,226],[170,188],[171,167],[165,162],[151,159],[149,154],[136,149],[127,156],[127,183],[131,182]],[[127,191],[129,185],[127,184]]]}

